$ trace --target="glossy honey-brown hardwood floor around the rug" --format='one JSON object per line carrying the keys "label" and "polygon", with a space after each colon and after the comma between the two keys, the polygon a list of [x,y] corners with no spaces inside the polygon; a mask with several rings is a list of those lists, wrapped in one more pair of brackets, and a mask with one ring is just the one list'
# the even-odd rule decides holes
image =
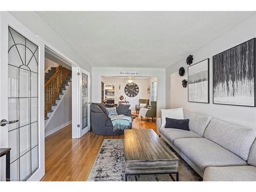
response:
{"label": "glossy honey-brown hardwood floor around the rug", "polygon": [[[156,122],[136,117],[133,129],[157,130]],[[71,138],[71,124],[46,137],[46,175],[41,181],[86,181],[104,139],[120,136],[101,136],[88,132],[80,139]]]}

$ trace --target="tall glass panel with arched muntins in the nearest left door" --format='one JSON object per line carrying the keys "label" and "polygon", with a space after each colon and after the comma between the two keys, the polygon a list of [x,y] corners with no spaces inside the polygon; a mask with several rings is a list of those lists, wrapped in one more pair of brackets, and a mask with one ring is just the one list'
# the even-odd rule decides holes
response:
{"label": "tall glass panel with arched muntins in the nearest left door", "polygon": [[9,27],[8,126],[11,181],[26,181],[38,169],[38,46]]}

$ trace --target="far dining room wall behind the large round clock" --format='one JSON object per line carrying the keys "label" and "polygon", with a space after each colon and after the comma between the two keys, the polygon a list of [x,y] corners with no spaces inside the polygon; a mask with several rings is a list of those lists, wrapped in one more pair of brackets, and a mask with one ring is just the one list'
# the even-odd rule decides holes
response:
{"label": "far dining room wall behind the large round clock", "polygon": [[[115,86],[115,103],[118,103],[120,101],[119,97],[122,95],[124,98],[126,98],[127,101],[130,102],[130,110],[132,112],[135,112],[135,105],[139,104],[139,99],[149,99],[147,95],[147,84],[148,84],[148,79],[151,78],[135,78],[135,83],[139,87],[139,93],[135,97],[128,97],[124,93],[124,87],[126,86],[126,79],[124,78],[113,78],[113,77],[102,77],[101,80],[105,84],[114,84]],[[119,84],[121,84],[121,88],[119,90]]]}

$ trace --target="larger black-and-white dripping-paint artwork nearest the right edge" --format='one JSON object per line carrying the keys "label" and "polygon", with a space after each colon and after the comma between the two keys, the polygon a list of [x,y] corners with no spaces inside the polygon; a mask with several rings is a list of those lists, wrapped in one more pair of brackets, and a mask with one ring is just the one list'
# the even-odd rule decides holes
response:
{"label": "larger black-and-white dripping-paint artwork nearest the right edge", "polygon": [[255,38],[212,57],[214,104],[255,106]]}

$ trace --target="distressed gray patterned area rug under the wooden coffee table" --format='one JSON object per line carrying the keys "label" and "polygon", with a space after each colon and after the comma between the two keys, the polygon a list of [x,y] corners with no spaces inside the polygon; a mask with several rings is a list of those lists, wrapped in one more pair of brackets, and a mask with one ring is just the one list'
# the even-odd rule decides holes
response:
{"label": "distressed gray patterned area rug under the wooden coffee table", "polygon": [[[168,144],[167,146],[173,151]],[[202,178],[176,152],[175,154],[180,160],[179,180],[202,181]],[[88,177],[88,181],[124,181],[124,173],[124,139],[105,139]],[[128,176],[127,180],[173,181],[168,174]]]}

